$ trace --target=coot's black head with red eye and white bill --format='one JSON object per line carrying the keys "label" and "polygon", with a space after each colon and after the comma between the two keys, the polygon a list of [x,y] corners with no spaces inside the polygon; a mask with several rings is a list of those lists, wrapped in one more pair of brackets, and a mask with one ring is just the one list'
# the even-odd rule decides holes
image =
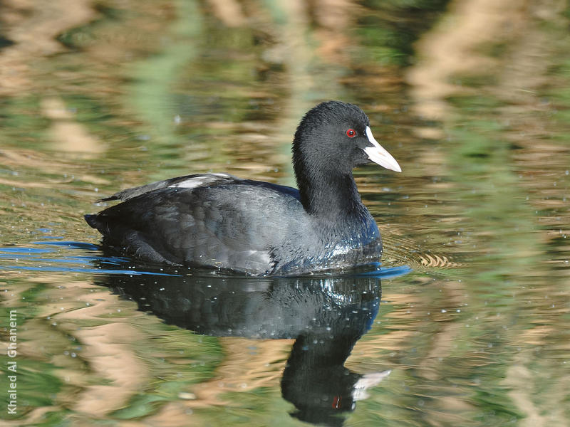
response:
{"label": "coot's black head with red eye and white bill", "polygon": [[368,117],[356,105],[322,102],[297,127],[293,164],[299,187],[311,177],[350,174],[353,167],[370,162],[401,172],[398,162],[374,139]]}

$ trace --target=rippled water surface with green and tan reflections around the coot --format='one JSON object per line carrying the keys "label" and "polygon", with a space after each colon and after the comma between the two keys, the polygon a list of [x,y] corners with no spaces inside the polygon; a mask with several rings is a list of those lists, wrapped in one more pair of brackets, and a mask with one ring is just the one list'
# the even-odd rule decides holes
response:
{"label": "rippled water surface with green and tan reflections around the coot", "polygon": [[[311,4],[0,5],[7,426],[570,423],[568,6]],[[99,251],[83,214],[118,189],[294,185],[296,123],[327,99],[360,105],[403,169],[355,171],[378,274]]]}

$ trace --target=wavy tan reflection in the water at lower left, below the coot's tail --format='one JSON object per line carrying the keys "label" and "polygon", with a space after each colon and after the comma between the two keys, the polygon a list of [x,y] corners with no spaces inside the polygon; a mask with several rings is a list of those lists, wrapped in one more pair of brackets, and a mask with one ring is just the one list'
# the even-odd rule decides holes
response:
{"label": "wavy tan reflection in the water at lower left, below the coot's tail", "polygon": [[[94,289],[98,292],[93,292]],[[132,310],[133,302],[120,301],[117,295],[94,288],[90,283],[72,283],[60,289],[58,297],[64,297],[68,303],[81,304],[61,307],[61,303],[54,302],[43,308],[51,314],[51,322],[58,330],[66,331],[81,343],[78,357],[89,368],[88,375],[73,370],[69,367],[68,357],[56,363],[67,368],[61,373],[62,380],[81,390],[68,395],[63,392],[59,396],[63,405],[91,416],[103,416],[126,406],[147,383],[149,376],[147,367],[133,352],[133,344],[142,338],[142,333],[130,323],[144,319],[144,315]],[[128,317],[111,320],[109,317],[118,313],[118,307],[124,308],[125,312],[131,309]],[[93,322],[95,325],[89,325]]]}

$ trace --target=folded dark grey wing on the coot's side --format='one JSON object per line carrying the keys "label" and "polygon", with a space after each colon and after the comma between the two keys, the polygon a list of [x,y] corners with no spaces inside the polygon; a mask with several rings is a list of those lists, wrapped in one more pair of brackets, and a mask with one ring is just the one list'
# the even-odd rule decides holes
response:
{"label": "folded dark grey wing on the coot's side", "polygon": [[[105,236],[105,244],[146,260],[252,274],[271,270],[273,248],[306,226],[299,192],[231,176],[209,177],[192,175],[121,191],[123,203],[86,220]],[[207,184],[192,185],[198,181]],[[150,191],[141,193],[145,188]]]}

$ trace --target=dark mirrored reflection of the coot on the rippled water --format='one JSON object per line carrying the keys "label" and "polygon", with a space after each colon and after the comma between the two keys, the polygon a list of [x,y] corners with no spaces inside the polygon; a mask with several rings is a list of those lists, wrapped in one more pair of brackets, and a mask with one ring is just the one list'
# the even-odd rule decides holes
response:
{"label": "dark mirrored reflection of the coot on the rippled water", "polygon": [[302,421],[341,426],[338,414],[353,411],[366,389],[390,373],[362,375],[344,367],[378,314],[378,277],[109,274],[99,284],[134,300],[139,310],[199,334],[295,339],[281,393],[296,407],[291,416]]}

